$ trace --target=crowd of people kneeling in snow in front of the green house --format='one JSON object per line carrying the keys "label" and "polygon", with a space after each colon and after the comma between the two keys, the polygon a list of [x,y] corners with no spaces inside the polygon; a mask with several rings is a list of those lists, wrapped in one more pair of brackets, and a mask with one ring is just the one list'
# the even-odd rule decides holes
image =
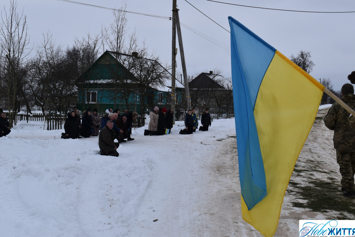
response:
{"label": "crowd of people kneeling in snow in front of the green house", "polygon": [[[120,114],[120,109],[108,108],[105,114],[100,118],[97,109],[94,108],[83,111],[82,118],[78,114],[78,109],[74,109],[68,113],[64,123],[65,133],[62,133],[63,139],[88,138],[89,136],[99,136],[100,155],[119,156],[117,148],[121,142],[132,141],[131,138],[133,120],[138,117],[135,111],[126,110]],[[211,126],[211,115],[206,108],[201,116],[202,126],[198,130],[208,131]],[[150,122],[148,130],[144,131],[144,135],[164,135],[171,132],[173,128],[174,110],[166,108],[158,108],[155,106],[149,113]],[[185,115],[185,129],[180,130],[180,134],[192,134],[198,127],[198,118],[196,109],[189,109]],[[115,142],[117,139],[118,142]],[[125,140],[127,139],[127,140]]]}

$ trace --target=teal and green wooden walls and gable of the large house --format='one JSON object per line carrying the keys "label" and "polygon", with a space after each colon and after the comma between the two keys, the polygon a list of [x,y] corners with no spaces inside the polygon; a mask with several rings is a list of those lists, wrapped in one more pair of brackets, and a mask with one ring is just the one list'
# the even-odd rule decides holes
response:
{"label": "teal and green wooden walls and gable of the large house", "polygon": [[[108,88],[110,84],[113,83],[111,79],[115,77],[127,78],[132,81],[137,80],[131,72],[129,72],[122,64],[116,61],[113,56],[105,52],[102,56],[99,57],[95,63],[88,68],[79,78],[78,78],[78,109],[83,111],[87,108],[97,108],[99,113],[104,112],[109,107],[114,107],[114,96],[112,95],[111,90]],[[108,83],[109,82],[109,83]],[[182,90],[183,88],[176,88],[176,97],[178,101],[176,104],[181,104],[182,99]],[[96,91],[97,92],[97,101],[94,103],[86,102],[86,91]],[[154,106],[171,107],[171,93],[162,92],[162,98],[159,103],[159,92],[156,90],[148,90],[147,96],[144,98],[144,101],[140,101],[140,96],[137,94],[132,94],[129,98],[129,110],[134,110],[140,113],[141,103],[144,103],[146,111],[150,111]],[[169,95],[169,98],[168,98]],[[138,98],[137,98],[138,97]],[[116,106],[114,109],[119,108],[125,110],[126,108],[125,101],[117,96]]]}

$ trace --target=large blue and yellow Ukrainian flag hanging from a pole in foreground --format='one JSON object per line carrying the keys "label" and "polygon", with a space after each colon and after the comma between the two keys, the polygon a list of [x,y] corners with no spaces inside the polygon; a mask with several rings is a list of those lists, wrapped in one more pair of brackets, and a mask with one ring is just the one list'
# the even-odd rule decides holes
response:
{"label": "large blue and yellow Ukrainian flag hanging from a pole in foreground", "polygon": [[273,236],[324,86],[228,17],[243,219]]}

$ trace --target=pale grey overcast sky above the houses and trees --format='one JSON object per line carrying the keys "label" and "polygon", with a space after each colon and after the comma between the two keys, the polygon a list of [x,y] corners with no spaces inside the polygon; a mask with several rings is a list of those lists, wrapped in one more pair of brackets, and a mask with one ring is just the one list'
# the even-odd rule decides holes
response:
{"label": "pale grey overcast sky above the houses and trees", "polygon": [[[75,0],[86,4],[108,8],[119,8],[121,1]],[[354,18],[355,13],[308,13],[257,9],[211,2],[188,0],[198,10],[230,31],[228,16],[241,22],[267,43],[290,57],[300,50],[309,51],[316,65],[310,73],[315,79],[330,79],[335,90],[348,83],[348,74],[355,71]],[[220,0],[233,4],[284,9],[295,11],[355,11],[355,1],[297,0]],[[10,0],[3,7],[9,8]],[[171,16],[172,0],[126,0],[127,11]],[[28,21],[31,44],[42,40],[42,33],[50,31],[56,43],[71,46],[75,36],[87,32],[99,34],[103,26],[113,22],[110,10],[72,4],[58,0],[17,0],[18,11],[24,11]],[[225,77],[231,76],[230,33],[197,11],[185,0],[177,0],[180,22],[218,41],[224,48],[207,41],[198,34],[182,27],[187,74],[195,75],[215,68],[223,70]],[[156,52],[163,62],[171,64],[170,20],[127,13],[129,32],[136,28],[140,41],[146,39],[149,52]],[[178,45],[178,41],[177,45]],[[177,70],[181,69],[180,53],[177,55]]]}

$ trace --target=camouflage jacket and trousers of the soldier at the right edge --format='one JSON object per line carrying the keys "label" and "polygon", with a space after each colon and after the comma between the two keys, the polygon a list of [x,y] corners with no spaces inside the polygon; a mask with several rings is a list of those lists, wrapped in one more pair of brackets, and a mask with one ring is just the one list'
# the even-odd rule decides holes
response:
{"label": "camouflage jacket and trousers of the soldier at the right edge", "polygon": [[[355,96],[344,95],[342,100],[351,108],[355,108]],[[337,162],[342,175],[342,187],[346,192],[354,192],[355,174],[355,128],[350,128],[350,113],[335,102],[324,117],[324,124],[334,130],[333,142],[337,150]]]}

